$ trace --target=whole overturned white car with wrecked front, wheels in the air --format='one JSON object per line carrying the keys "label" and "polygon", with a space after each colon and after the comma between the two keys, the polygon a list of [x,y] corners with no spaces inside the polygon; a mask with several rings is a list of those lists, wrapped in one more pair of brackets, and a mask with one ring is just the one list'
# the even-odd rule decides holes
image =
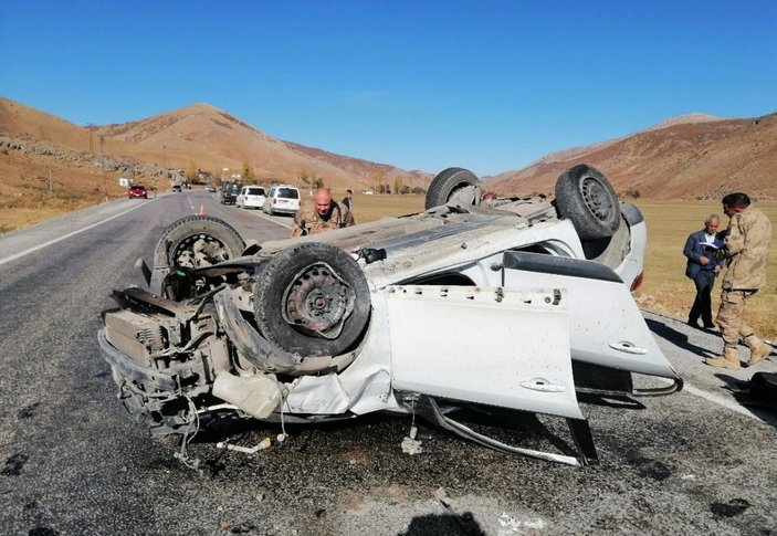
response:
{"label": "whole overturned white car with wrecked front, wheels in the air", "polygon": [[[119,399],[151,434],[207,414],[317,422],[418,413],[482,444],[597,461],[577,391],[682,387],[637,308],[645,224],[589,166],[556,198],[481,202],[477,178],[438,175],[422,213],[246,244],[187,217],[157,244],[149,292],[116,291],[98,340]],[[666,378],[637,389],[631,372]],[[454,420],[500,407],[565,418],[576,455],[507,445]]]}

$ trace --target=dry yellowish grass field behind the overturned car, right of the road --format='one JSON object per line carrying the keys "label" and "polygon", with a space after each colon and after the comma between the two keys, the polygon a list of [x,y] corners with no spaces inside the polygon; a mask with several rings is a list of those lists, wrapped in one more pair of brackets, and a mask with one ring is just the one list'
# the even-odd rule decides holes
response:
{"label": "dry yellowish grass field behind the overturned car, right of the road", "polygon": [[[335,199],[342,197],[342,192],[336,192]],[[644,283],[634,297],[648,311],[686,319],[695,290],[693,282],[685,277],[685,258],[682,254],[685,239],[704,227],[703,222],[710,213],[721,216],[721,227],[724,229],[728,220],[717,201],[640,199],[637,204],[648,222],[648,252]],[[775,225],[777,202],[764,201],[757,206]],[[423,196],[354,196],[357,223],[421,210]],[[720,292],[716,288],[713,291],[713,313],[717,311],[718,303]],[[746,320],[759,335],[777,338],[777,233],[771,237],[767,285],[749,302]]]}

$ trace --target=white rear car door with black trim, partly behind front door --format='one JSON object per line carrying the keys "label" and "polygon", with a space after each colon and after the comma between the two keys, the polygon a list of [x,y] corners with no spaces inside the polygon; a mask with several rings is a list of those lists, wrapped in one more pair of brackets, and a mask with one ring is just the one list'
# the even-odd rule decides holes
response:
{"label": "white rear car door with black trim, partly behind front door", "polygon": [[629,288],[609,267],[594,261],[508,251],[504,254],[503,284],[567,290],[575,360],[679,378],[648,329]]}

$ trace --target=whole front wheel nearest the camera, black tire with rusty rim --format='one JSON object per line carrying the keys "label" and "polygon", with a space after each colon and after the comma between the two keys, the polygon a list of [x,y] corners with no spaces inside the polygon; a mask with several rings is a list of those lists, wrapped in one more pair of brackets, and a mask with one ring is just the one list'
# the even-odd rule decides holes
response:
{"label": "whole front wheel nearest the camera, black tire with rusty rim", "polygon": [[280,251],[260,272],[253,298],[262,335],[302,356],[351,350],[369,320],[361,267],[329,244],[308,242]]}

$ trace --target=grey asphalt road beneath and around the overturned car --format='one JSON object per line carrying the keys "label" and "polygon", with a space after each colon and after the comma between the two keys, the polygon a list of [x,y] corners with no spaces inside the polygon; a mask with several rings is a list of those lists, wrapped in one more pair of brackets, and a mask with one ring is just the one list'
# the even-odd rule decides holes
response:
{"label": "grey asphalt road beneath and around the overturned car", "polygon": [[[715,334],[645,314],[686,381],[676,395],[582,403],[601,464],[511,456],[409,418],[286,427],[224,423],[199,434],[188,469],[171,438],[129,421],[96,344],[109,293],[143,285],[161,230],[203,207],[246,239],[290,219],[218,204],[203,192],[122,200],[0,237],[0,533],[66,534],[774,534],[777,419],[725,387],[753,374],[710,369]],[[746,358],[746,349],[742,348]],[[758,370],[777,370],[777,359]],[[511,416],[492,428],[526,446],[569,450],[563,423]]]}

